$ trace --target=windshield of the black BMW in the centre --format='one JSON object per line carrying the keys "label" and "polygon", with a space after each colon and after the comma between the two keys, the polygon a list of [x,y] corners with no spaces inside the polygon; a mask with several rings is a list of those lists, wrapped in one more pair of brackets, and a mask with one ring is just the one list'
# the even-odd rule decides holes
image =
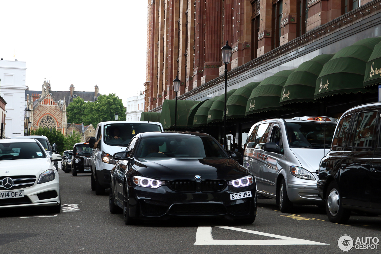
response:
{"label": "windshield of the black BMW in the centre", "polygon": [[199,136],[143,137],[136,157],[227,158],[226,152],[213,138]]}

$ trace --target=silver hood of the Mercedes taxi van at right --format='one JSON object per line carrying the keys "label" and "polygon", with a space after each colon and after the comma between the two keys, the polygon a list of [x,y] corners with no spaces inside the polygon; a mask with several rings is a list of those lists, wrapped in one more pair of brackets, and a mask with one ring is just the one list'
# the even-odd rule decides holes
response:
{"label": "silver hood of the Mercedes taxi van at right", "polygon": [[311,148],[290,148],[296,158],[299,160],[302,168],[310,172],[316,172],[319,169],[320,160],[329,149],[311,149]]}

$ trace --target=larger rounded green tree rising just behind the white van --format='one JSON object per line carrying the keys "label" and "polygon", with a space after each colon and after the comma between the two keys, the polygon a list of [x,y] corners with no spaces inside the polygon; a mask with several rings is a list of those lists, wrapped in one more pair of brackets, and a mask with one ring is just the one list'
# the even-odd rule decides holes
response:
{"label": "larger rounded green tree rising just behind the white van", "polygon": [[126,120],[126,109],[123,106],[122,99],[119,99],[114,93],[101,95],[97,101],[86,103],[83,123],[85,125],[91,123],[96,126],[102,121],[114,121],[115,113],[118,113],[118,120]]}

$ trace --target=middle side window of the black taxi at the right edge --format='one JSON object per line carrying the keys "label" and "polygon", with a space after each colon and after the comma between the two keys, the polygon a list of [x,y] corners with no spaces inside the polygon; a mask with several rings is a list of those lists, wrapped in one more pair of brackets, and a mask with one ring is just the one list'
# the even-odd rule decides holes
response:
{"label": "middle side window of the black taxi at the right edge", "polygon": [[377,112],[361,112],[351,130],[348,146],[371,147],[375,134]]}

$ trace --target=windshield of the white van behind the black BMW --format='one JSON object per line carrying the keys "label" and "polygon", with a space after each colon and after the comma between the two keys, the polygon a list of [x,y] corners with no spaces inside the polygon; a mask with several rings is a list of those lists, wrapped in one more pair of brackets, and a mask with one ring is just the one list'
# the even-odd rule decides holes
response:
{"label": "windshield of the white van behind the black BMW", "polygon": [[112,123],[104,126],[103,140],[107,145],[128,146],[139,133],[162,131],[159,125],[150,123]]}

